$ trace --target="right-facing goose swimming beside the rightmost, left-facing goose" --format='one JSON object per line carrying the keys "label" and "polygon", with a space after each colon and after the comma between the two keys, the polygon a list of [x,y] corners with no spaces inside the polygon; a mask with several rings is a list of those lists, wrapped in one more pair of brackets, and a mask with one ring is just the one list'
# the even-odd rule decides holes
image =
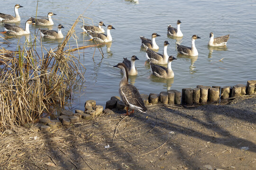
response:
{"label": "right-facing goose swimming beside the rightmost, left-facing goose", "polygon": [[195,40],[200,38],[197,35],[193,35],[191,38],[191,43],[192,43],[192,47],[186,47],[180,44],[177,44],[177,50],[179,51],[179,53],[183,54],[183,55],[187,55],[187,56],[198,56],[198,51],[195,48]]}

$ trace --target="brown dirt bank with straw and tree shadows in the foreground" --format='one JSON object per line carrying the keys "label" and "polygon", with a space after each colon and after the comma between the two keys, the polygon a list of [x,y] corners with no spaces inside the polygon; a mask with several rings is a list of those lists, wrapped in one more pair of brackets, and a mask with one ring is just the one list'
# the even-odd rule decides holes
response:
{"label": "brown dirt bank with straw and tree shadows in the foreground", "polygon": [[256,170],[256,96],[110,112],[48,133],[16,128],[0,136],[0,169]]}

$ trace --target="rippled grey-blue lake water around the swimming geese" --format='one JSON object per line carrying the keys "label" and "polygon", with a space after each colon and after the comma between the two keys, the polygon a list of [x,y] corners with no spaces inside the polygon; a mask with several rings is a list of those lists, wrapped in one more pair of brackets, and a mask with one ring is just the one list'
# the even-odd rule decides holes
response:
{"label": "rippled grey-blue lake water around the swimming geese", "polygon": [[[26,20],[36,16],[37,0],[16,0],[15,2],[2,1],[1,13],[14,15],[14,3],[19,3],[24,8],[19,8],[21,22],[24,27]],[[129,79],[140,93],[160,93],[167,89],[181,91],[185,87],[196,85],[236,85],[246,84],[247,80],[256,79],[256,1],[255,0],[138,0],[138,3],[130,0],[51,0],[38,1],[37,16],[46,16],[48,12],[57,14],[53,16],[56,30],[58,24],[63,24],[64,36],[74,21],[82,14],[88,24],[98,25],[103,21],[106,26],[112,25],[113,42],[102,47],[104,58],[98,48],[92,47],[80,52],[80,62],[86,68],[86,82],[81,90],[73,93],[72,109],[83,110],[84,102],[94,99],[97,104],[105,107],[106,101],[111,96],[119,95],[119,81],[122,78],[120,70],[113,68],[123,57],[130,59],[136,55],[138,70],[137,76]],[[176,40],[167,37],[167,26],[176,27],[177,20],[182,21],[181,30],[183,38]],[[82,34],[82,23],[76,26],[77,42],[79,46],[89,45],[92,42],[84,42],[89,39]],[[106,30],[106,27],[104,27]],[[0,24],[0,30],[4,30]],[[35,27],[30,26],[35,33]],[[37,31],[37,30],[36,30]],[[208,48],[209,34],[213,32],[215,37],[230,34],[227,48]],[[145,51],[140,49],[139,36],[147,38],[152,33],[160,34],[156,43],[163,51],[163,44],[168,40],[170,45],[167,52],[174,55],[177,60],[172,62],[174,71],[173,79],[159,79],[151,76],[149,65],[145,65]],[[191,37],[197,34],[201,39],[196,40],[198,57],[184,57],[178,55],[175,43],[191,46]],[[32,35],[34,36],[34,35]],[[39,38],[39,35],[38,35]],[[11,38],[8,50],[16,50],[17,43],[23,44],[25,36]],[[2,40],[0,41],[2,42]],[[43,40],[46,48],[57,47],[57,41]],[[71,38],[70,46],[76,46],[76,41]],[[95,51],[95,54],[94,54]],[[94,54],[94,58],[92,58]],[[78,56],[78,54],[77,54]],[[219,61],[222,59],[221,61]]]}

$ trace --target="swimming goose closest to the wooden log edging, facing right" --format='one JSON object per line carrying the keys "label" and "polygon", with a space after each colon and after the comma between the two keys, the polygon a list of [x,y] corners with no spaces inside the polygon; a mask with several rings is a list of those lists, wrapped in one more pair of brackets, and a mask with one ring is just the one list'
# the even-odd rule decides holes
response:
{"label": "swimming goose closest to the wooden log edging, facing right", "polygon": [[168,58],[168,64],[167,68],[163,66],[156,65],[152,62],[150,62],[150,68],[152,70],[152,74],[154,76],[160,77],[160,78],[174,78],[174,72],[172,70],[172,61],[176,59],[174,56],[170,56]]}

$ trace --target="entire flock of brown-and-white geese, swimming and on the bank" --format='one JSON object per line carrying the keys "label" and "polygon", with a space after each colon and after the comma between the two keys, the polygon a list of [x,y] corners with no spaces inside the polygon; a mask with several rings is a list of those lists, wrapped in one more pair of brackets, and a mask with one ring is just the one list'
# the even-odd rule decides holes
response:
{"label": "entire flock of brown-and-white geese, swimming and on the bank", "polygon": [[[25,35],[30,34],[29,32],[29,25],[33,24],[36,26],[52,26],[54,25],[54,22],[52,20],[52,16],[56,15],[53,12],[49,12],[47,19],[46,18],[33,18],[30,17],[25,24],[25,30],[19,26],[12,26],[7,23],[16,23],[20,21],[20,16],[18,14],[18,8],[21,8],[19,4],[15,5],[14,12],[15,17],[7,14],[0,13],[0,22],[5,23],[4,24],[4,32],[1,32],[3,34],[12,34],[12,35]],[[183,37],[183,33],[180,29],[181,21],[177,21],[177,28],[174,28],[173,26],[169,25],[167,27],[167,35],[173,36],[173,37]],[[94,40],[97,42],[111,42],[112,36],[110,34],[111,29],[115,29],[113,26],[109,25],[107,26],[107,33],[105,33],[102,26],[105,26],[104,23],[101,21],[99,22],[98,26],[81,26],[82,30],[87,33],[90,36],[90,40]],[[61,24],[58,25],[58,31],[54,30],[46,30],[38,28],[38,30],[41,33],[41,36],[44,38],[50,38],[50,39],[59,39],[63,38],[63,34],[61,32],[61,29],[64,28]],[[140,36],[141,39],[141,47],[146,50],[146,59],[150,64],[152,75],[160,77],[160,78],[173,78],[174,72],[171,68],[171,63],[174,59],[176,59],[174,56],[168,56],[167,54],[167,46],[169,45],[168,41],[164,42],[164,49],[163,54],[157,53],[154,50],[158,50],[159,46],[155,42],[155,38],[160,36],[157,33],[153,33],[151,36],[151,39],[148,39],[144,36]],[[183,55],[186,56],[198,56],[198,51],[195,47],[195,40],[200,38],[198,35],[193,35],[191,38],[191,47],[186,47],[180,44],[177,44],[177,51]],[[220,36],[217,38],[214,38],[213,33],[210,33],[210,41],[208,42],[209,46],[225,46],[227,44],[227,41],[229,39],[229,35]],[[122,101],[127,106],[127,111],[125,115],[129,115],[134,113],[134,110],[138,110],[140,112],[146,112],[146,107],[144,105],[144,102],[141,98],[141,95],[139,94],[137,88],[134,85],[128,84],[128,76],[134,76],[137,75],[137,68],[135,67],[135,61],[138,58],[136,56],[132,56],[131,60],[128,60],[127,58],[123,58],[122,63],[118,63],[114,67],[120,68],[121,72],[123,73],[123,78],[121,79],[119,83],[119,94],[122,99]],[[167,64],[167,68],[164,66],[160,66],[158,64]],[[132,111],[128,112],[128,108],[130,108]]]}

